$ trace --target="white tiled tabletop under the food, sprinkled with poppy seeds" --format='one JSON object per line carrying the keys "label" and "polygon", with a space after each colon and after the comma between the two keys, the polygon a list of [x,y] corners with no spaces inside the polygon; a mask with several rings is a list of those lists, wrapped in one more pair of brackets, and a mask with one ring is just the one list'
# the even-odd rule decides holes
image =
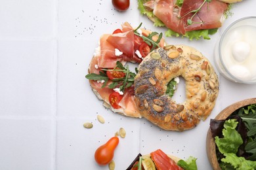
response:
{"label": "white tiled tabletop under the food, sprinkled with poppy seeds", "polygon": [[[210,41],[166,41],[194,46],[213,63],[213,48],[224,29],[239,18],[256,16],[255,5],[252,0],[234,5],[233,16]],[[100,35],[125,21],[165,30],[140,16],[136,1],[126,12],[114,10],[110,0],[1,1],[0,169],[108,169],[96,165],[94,152],[119,127],[127,136],[117,146],[116,169],[128,167],[139,152],[158,148],[183,159],[194,156],[198,169],[211,169],[205,152],[210,118],[236,101],[256,97],[256,85],[236,84],[220,75],[212,114],[182,133],[114,114],[96,99],[85,75]],[[177,100],[182,100],[182,88]],[[105,124],[96,120],[97,114]],[[93,122],[93,129],[85,129],[84,122]]]}

